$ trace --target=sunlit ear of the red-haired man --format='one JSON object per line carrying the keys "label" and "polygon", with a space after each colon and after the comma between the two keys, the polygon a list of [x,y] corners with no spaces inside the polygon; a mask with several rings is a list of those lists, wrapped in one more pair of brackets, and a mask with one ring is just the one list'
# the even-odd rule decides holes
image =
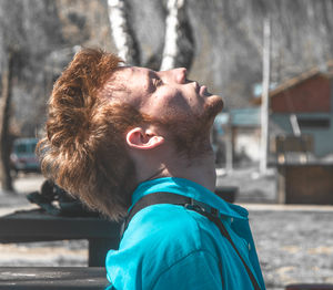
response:
{"label": "sunlit ear of the red-haired man", "polygon": [[164,143],[164,137],[157,135],[151,130],[142,127],[132,128],[127,134],[127,144],[137,149],[152,149]]}

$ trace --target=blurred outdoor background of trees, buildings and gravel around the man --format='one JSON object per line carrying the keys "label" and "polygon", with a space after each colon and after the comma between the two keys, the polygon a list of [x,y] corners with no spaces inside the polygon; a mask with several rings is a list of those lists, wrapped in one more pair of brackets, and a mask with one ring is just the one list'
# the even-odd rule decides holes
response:
{"label": "blurred outdoor background of trees, buildings and gravel around the man", "polygon": [[[82,46],[224,99],[216,187],[250,210],[268,289],[333,283],[333,0],[0,1],[0,214],[33,208],[53,82]],[[0,244],[0,266],[82,266],[87,242]]]}

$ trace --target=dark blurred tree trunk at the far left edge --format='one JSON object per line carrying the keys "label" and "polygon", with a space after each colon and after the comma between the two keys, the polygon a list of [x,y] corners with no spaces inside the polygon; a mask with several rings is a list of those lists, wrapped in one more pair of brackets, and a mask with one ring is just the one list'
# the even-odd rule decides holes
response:
{"label": "dark blurred tree trunk at the far left edge", "polygon": [[10,175],[10,103],[13,70],[13,53],[9,52],[7,66],[2,71],[2,95],[0,100],[0,180],[1,188],[6,191],[13,191]]}

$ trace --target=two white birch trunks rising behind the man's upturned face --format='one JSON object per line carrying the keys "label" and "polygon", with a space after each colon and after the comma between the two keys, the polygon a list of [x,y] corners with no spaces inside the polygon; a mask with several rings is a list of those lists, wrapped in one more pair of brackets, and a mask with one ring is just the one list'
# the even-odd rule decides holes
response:
{"label": "two white birch trunks rising behind the man's upturned face", "polygon": [[[119,56],[129,64],[140,64],[135,33],[131,28],[127,0],[108,0],[109,20]],[[194,41],[185,13],[185,0],[168,0],[165,37],[160,70],[192,63]],[[157,58],[160,59],[160,58]]]}

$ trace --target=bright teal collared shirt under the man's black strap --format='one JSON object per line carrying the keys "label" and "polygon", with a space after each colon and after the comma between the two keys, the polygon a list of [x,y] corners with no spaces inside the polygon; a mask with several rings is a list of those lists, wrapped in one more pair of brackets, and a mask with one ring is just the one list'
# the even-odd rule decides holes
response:
{"label": "bright teal collared shirt under the man's black strap", "polygon": [[[265,289],[246,209],[225,203],[183,178],[159,178],[139,185],[133,205],[152,193],[174,193],[219,209],[243,259]],[[152,205],[130,221],[119,250],[107,256],[108,279],[118,290],[253,289],[246,270],[219,228],[196,211],[176,205]]]}

